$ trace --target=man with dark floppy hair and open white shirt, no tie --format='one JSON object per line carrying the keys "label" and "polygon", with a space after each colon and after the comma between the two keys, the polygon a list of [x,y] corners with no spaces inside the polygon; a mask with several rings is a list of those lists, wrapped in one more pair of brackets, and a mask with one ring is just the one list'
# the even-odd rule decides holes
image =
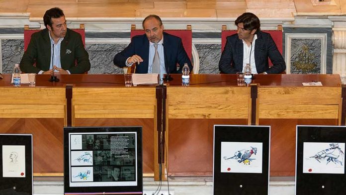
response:
{"label": "man with dark floppy hair and open white shirt, no tie", "polygon": [[[227,37],[221,54],[219,70],[226,74],[244,72],[247,63],[254,74],[278,74],[286,70],[285,61],[270,34],[260,31],[259,18],[243,13],[235,24],[237,34]],[[268,57],[273,66],[269,68]]]}

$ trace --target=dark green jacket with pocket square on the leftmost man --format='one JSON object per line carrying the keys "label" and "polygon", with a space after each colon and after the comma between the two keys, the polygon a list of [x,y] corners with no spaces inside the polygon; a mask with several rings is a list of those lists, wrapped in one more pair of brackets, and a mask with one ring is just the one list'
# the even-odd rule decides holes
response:
{"label": "dark green jacket with pocket square on the leftmost man", "polygon": [[[32,34],[29,46],[20,61],[21,71],[25,73],[48,71],[51,61],[51,47],[48,29]],[[71,53],[67,52],[67,49]],[[66,36],[61,42],[60,61],[61,68],[70,71],[71,74],[83,74],[90,70],[89,55],[84,49],[79,33],[67,29]],[[36,66],[33,66],[34,63]]]}

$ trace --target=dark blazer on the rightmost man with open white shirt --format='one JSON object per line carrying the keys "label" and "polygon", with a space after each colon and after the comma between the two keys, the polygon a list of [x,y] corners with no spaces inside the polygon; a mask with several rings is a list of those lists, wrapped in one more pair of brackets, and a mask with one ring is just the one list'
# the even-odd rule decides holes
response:
{"label": "dark blazer on the rightmost man with open white shirt", "polygon": [[[238,38],[238,34],[228,36],[225,49],[221,54],[219,70],[227,74],[242,72],[243,53],[243,41]],[[268,57],[273,63],[270,68]],[[269,33],[257,32],[255,63],[258,73],[279,74],[286,70],[286,63]]]}

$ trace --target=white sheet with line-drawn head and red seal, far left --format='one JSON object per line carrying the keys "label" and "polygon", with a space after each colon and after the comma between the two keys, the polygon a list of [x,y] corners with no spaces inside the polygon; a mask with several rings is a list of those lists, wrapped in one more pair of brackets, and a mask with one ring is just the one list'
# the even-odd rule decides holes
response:
{"label": "white sheet with line-drawn head and red seal, far left", "polygon": [[2,146],[2,177],[25,178],[25,146]]}

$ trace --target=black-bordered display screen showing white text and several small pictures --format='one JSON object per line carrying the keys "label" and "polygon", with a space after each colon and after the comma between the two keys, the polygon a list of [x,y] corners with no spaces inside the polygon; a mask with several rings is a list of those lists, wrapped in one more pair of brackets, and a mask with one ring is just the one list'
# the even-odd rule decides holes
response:
{"label": "black-bordered display screen showing white text and several small pictures", "polygon": [[64,195],[143,192],[142,127],[65,127]]}

